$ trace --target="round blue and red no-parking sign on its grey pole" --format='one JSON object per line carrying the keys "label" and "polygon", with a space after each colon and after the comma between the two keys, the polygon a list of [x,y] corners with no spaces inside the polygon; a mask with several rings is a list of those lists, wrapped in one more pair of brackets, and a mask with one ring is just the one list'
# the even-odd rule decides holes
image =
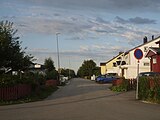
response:
{"label": "round blue and red no-parking sign on its grey pole", "polygon": [[134,51],[134,56],[138,60],[137,61],[137,86],[136,86],[136,99],[138,99],[138,86],[139,86],[139,60],[143,57],[143,52],[141,49],[136,49]]}

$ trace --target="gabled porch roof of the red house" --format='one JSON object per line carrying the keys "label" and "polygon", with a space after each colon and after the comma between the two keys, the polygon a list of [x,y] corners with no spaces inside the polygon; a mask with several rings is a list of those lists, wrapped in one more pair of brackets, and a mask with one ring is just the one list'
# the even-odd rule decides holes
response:
{"label": "gabled porch roof of the red house", "polygon": [[160,48],[150,47],[149,50],[147,51],[145,57],[151,57],[156,54],[160,55]]}

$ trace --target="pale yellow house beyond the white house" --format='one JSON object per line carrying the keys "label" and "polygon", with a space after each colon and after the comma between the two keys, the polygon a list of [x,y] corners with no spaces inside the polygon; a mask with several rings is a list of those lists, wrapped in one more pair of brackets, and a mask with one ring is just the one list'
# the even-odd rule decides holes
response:
{"label": "pale yellow house beyond the white house", "polygon": [[104,63],[100,63],[101,74],[104,75],[106,73],[111,73],[111,72],[118,73],[115,67],[117,67],[118,64],[120,64],[122,55],[123,52],[120,52],[117,56],[113,57],[111,60]]}

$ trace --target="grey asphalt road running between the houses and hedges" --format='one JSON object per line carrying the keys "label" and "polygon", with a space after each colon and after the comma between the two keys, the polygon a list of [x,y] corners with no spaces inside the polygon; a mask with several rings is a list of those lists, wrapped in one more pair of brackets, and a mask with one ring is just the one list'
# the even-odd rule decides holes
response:
{"label": "grey asphalt road running between the houses and hedges", "polygon": [[160,120],[160,105],[115,93],[110,84],[73,79],[44,101],[0,106],[0,120]]}

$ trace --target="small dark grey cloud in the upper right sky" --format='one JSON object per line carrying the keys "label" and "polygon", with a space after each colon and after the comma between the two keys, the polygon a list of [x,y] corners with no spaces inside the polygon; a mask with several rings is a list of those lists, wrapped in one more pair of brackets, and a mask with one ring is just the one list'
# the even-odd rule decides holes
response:
{"label": "small dark grey cloud in the upper right sky", "polygon": [[156,24],[156,20],[148,19],[148,18],[141,18],[141,17],[135,17],[135,18],[129,18],[128,20],[125,20],[119,16],[116,16],[116,22],[127,24]]}

